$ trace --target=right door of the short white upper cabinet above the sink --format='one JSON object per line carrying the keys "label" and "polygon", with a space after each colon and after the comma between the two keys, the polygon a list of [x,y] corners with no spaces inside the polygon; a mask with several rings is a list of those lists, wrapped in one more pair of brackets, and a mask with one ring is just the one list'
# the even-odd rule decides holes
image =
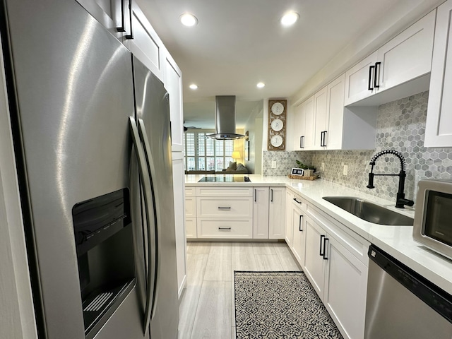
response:
{"label": "right door of the short white upper cabinet above the sink", "polygon": [[[432,11],[378,50],[377,91],[392,88],[429,73],[436,11]],[[416,51],[413,53],[413,51]]]}

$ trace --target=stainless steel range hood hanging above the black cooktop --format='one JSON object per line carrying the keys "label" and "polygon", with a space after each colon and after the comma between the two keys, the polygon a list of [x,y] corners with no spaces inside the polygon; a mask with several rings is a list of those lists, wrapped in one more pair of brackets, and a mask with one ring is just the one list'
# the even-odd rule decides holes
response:
{"label": "stainless steel range hood hanging above the black cooktop", "polygon": [[232,140],[244,138],[235,133],[235,95],[217,95],[215,97],[215,134],[209,138]]}

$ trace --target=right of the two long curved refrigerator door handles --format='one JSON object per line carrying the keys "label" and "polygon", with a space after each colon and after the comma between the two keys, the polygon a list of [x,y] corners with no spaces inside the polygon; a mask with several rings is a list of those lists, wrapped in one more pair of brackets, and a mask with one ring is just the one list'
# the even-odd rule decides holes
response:
{"label": "right of the two long curved refrigerator door handles", "polygon": [[158,199],[156,199],[156,196],[160,196],[157,192],[157,186],[154,186],[153,184],[153,178],[156,178],[155,175],[155,166],[154,166],[154,160],[152,157],[152,154],[150,153],[150,145],[149,145],[149,139],[148,139],[148,133],[146,133],[146,128],[144,126],[143,119],[138,119],[138,131],[140,132],[141,142],[144,146],[144,154],[146,163],[148,165],[148,173],[150,175],[150,189],[152,189],[153,193],[153,204],[154,204],[154,225],[155,225],[155,280],[154,280],[154,298],[153,303],[150,311],[150,319],[153,319],[155,316],[155,304],[157,304],[157,297],[158,297],[158,278],[160,277],[160,225],[162,223],[160,222],[160,202]]}

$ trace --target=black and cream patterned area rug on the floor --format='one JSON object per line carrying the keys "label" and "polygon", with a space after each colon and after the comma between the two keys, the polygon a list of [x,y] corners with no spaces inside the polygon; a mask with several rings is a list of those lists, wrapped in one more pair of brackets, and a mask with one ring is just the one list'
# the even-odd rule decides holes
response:
{"label": "black and cream patterned area rug on the floor", "polygon": [[237,339],[340,338],[303,272],[234,271]]}

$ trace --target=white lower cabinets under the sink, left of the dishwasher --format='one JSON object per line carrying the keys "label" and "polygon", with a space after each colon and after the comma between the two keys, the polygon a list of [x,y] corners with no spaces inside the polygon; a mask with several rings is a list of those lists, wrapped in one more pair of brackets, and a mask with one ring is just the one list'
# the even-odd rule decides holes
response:
{"label": "white lower cabinets under the sink, left of the dishwasher", "polygon": [[304,200],[295,206],[294,197],[301,199],[297,194],[286,196],[287,204],[292,199],[286,231],[292,234],[287,243],[292,254],[343,337],[364,338],[370,243]]}

